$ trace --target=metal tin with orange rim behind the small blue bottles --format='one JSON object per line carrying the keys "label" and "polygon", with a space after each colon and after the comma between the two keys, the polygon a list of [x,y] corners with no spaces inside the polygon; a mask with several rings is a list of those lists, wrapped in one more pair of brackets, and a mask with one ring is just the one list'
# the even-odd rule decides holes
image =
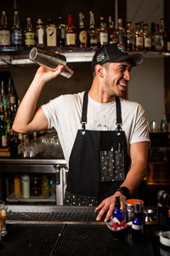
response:
{"label": "metal tin with orange rim behind the small blue bottles", "polygon": [[135,202],[140,201],[142,203],[142,206],[144,207],[144,201],[139,199],[127,199],[125,202],[125,221],[126,223],[133,220],[134,215],[134,205]]}

